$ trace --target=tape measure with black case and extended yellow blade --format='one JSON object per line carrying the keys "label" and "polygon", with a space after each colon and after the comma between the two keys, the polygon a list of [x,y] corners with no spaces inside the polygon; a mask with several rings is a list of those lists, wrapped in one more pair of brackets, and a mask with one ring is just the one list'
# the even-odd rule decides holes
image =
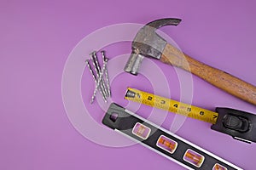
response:
{"label": "tape measure with black case and extended yellow blade", "polygon": [[256,116],[246,111],[237,111],[229,108],[216,108],[216,112],[208,111],[135,88],[127,88],[125,99],[189,116],[200,121],[210,122],[213,130],[230,134],[234,139],[243,142],[256,142],[256,135],[254,135],[256,133]]}

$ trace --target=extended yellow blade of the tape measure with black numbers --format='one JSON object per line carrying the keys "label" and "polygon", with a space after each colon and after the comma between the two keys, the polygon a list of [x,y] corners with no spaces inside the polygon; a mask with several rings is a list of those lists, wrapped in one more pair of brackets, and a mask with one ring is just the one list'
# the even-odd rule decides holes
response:
{"label": "extended yellow blade of the tape measure with black numbers", "polygon": [[166,99],[158,95],[148,94],[135,88],[127,88],[125,99],[212,124],[215,124],[218,118],[217,112],[208,111],[194,105],[183,104],[176,100]]}

